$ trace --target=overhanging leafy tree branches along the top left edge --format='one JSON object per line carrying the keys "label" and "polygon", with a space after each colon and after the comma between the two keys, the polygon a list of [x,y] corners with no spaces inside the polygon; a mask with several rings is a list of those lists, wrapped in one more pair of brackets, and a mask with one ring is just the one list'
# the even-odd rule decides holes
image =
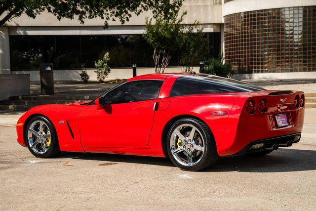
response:
{"label": "overhanging leafy tree branches along the top left edge", "polygon": [[[154,17],[167,17],[170,11],[178,9],[183,0],[0,0],[0,26],[23,12],[35,18],[45,9],[62,18],[84,19],[100,17],[105,27],[108,21],[118,19],[122,24],[129,21],[131,13],[139,15],[143,11],[152,10]],[[4,14],[4,15],[2,15]]]}

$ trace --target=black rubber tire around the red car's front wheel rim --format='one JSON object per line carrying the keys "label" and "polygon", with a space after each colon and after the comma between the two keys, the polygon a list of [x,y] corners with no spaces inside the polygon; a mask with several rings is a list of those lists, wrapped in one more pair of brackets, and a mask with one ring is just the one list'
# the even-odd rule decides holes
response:
{"label": "black rubber tire around the red car's front wheel rim", "polygon": [[[48,150],[43,153],[43,154],[37,154],[35,153],[31,147],[30,147],[30,144],[29,144],[29,141],[27,140],[28,139],[28,129],[29,127],[32,125],[32,123],[34,123],[35,121],[43,121],[47,127],[49,128],[50,130],[50,135],[51,135],[51,141],[50,141],[50,146],[48,148]],[[45,117],[43,116],[36,116],[36,117],[33,117],[27,127],[25,128],[25,131],[24,131],[24,137],[25,137],[25,143],[27,145],[27,147],[29,148],[30,152],[38,157],[38,158],[50,158],[50,157],[54,157],[56,156],[58,153],[60,153],[60,148],[59,148],[59,143],[58,143],[58,138],[57,138],[57,134],[56,134],[56,131],[55,131],[55,127],[53,127],[52,123]]]}

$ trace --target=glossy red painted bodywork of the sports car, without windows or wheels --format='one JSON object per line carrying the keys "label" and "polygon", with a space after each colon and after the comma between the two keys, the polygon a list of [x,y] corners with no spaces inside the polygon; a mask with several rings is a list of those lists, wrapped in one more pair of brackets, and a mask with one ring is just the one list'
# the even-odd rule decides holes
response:
{"label": "glossy red painted bodywork of the sports car, without windows or wheels", "polygon": [[[169,97],[174,82],[185,74],[152,74],[135,80],[163,80],[158,99],[105,105],[44,105],[30,109],[18,121],[17,141],[25,146],[23,131],[27,120],[35,115],[47,117],[54,125],[60,149],[73,152],[103,152],[163,157],[162,134],[167,123],[179,116],[192,116],[204,121],[211,129],[219,156],[238,153],[249,143],[301,132],[304,108],[296,108],[294,98],[303,92],[268,95],[272,91],[214,93]],[[268,111],[249,115],[248,99],[266,98]],[[282,104],[280,98],[287,98]],[[154,106],[156,103],[156,106]],[[215,112],[227,115],[211,115]],[[277,128],[275,115],[286,114],[289,126]],[[60,121],[64,123],[59,124]],[[68,121],[74,138],[66,124]],[[22,126],[19,126],[22,124]]]}

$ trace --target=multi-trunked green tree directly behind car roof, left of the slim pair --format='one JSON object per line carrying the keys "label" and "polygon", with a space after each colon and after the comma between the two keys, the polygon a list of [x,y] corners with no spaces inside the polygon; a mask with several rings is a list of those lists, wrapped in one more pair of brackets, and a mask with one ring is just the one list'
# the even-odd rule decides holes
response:
{"label": "multi-trunked green tree directly behind car roof, left of the slim pair", "polygon": [[178,41],[181,35],[181,22],[183,16],[178,17],[178,12],[174,11],[169,16],[158,16],[146,19],[146,33],[143,34],[145,40],[154,48],[153,59],[155,72],[163,73],[168,66],[172,54],[178,49]]}

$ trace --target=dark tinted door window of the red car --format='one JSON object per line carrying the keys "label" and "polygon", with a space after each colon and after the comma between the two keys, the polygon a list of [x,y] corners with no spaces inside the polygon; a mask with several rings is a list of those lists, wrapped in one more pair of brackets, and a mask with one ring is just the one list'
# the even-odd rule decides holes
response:
{"label": "dark tinted door window of the red car", "polygon": [[157,99],[163,81],[132,81],[108,92],[105,95],[107,104],[118,104]]}

